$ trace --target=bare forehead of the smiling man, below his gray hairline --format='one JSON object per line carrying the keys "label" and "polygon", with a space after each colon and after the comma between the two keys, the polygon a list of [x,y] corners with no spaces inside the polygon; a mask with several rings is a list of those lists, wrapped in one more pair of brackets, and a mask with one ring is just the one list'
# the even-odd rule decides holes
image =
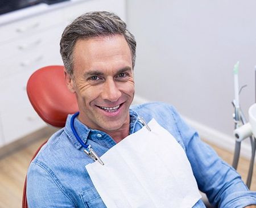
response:
{"label": "bare forehead of the smiling man, below his gray hairline", "polygon": [[75,70],[131,67],[131,50],[122,35],[80,39],[74,47],[73,66]]}

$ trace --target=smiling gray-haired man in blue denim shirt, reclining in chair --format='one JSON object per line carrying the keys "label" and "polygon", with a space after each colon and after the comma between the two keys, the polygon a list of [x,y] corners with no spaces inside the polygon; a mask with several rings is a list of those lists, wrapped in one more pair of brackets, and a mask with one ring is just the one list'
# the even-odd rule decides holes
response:
{"label": "smiling gray-haired man in blue denim shirt, reclining in chair", "polygon": [[[65,28],[60,53],[67,86],[76,94],[80,113],[67,118],[65,128],[52,135],[31,163],[28,206],[106,207],[84,167],[94,161],[83,150],[91,145],[98,156],[105,154],[142,128],[138,118],[142,116],[146,123],[154,118],[174,136],[187,155],[198,188],[213,205],[256,207],[256,193],[200,141],[173,107],[150,103],[130,108],[135,48],[126,24],[109,12],[89,12]],[[199,199],[193,207],[205,206]]]}

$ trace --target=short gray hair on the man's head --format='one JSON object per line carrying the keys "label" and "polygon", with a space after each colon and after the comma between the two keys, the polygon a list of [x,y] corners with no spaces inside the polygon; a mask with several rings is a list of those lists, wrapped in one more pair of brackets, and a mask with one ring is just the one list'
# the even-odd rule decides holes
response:
{"label": "short gray hair on the man's head", "polygon": [[91,37],[123,35],[130,47],[132,65],[135,66],[136,41],[126,23],[112,12],[94,11],[85,13],[69,24],[61,36],[60,54],[69,75],[73,75],[73,49],[77,40]]}

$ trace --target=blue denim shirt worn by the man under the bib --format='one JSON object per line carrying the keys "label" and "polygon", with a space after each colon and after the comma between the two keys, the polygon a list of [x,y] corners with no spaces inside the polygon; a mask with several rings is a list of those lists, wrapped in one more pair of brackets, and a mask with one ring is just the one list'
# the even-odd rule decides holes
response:
{"label": "blue denim shirt worn by the man under the bib", "polygon": [[[143,126],[138,116],[146,122],[155,118],[176,138],[187,154],[199,189],[207,194],[213,205],[233,208],[256,204],[256,192],[249,191],[240,175],[200,140],[196,131],[185,124],[174,107],[164,103],[131,107],[130,134]],[[27,173],[27,201],[30,208],[106,207],[85,169],[85,165],[93,160],[84,153],[73,135],[70,120],[71,116],[68,116],[65,127],[52,135],[30,164]],[[82,141],[92,145],[98,155],[115,145],[108,134],[89,129],[77,118],[75,128]],[[193,207],[205,206],[199,200]]]}

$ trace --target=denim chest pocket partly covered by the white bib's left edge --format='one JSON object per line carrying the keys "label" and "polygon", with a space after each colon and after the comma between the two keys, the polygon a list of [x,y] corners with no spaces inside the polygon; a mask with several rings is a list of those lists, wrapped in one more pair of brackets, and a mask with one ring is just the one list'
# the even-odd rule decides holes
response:
{"label": "denim chest pocket partly covered by the white bib's left edge", "polygon": [[80,197],[87,208],[106,208],[106,205],[94,186],[82,191]]}

